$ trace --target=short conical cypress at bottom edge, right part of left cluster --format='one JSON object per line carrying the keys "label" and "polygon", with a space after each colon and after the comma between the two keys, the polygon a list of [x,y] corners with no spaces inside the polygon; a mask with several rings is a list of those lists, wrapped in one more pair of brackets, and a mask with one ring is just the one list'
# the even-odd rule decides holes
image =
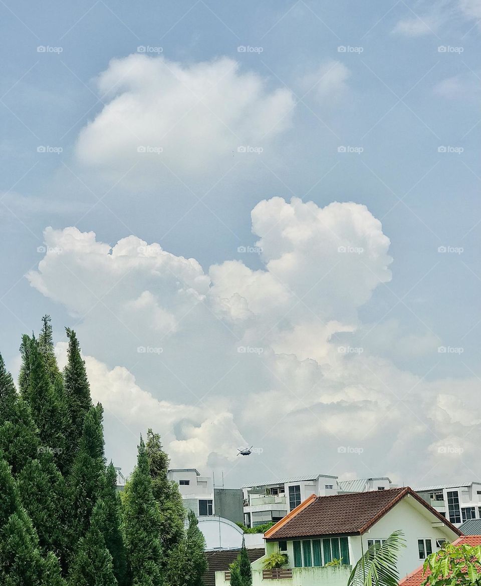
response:
{"label": "short conical cypress at bottom edge, right part of left cluster", "polygon": [[76,547],[69,574],[71,586],[117,586],[112,556],[104,540],[107,516],[105,503],[98,499],[90,527]]}

